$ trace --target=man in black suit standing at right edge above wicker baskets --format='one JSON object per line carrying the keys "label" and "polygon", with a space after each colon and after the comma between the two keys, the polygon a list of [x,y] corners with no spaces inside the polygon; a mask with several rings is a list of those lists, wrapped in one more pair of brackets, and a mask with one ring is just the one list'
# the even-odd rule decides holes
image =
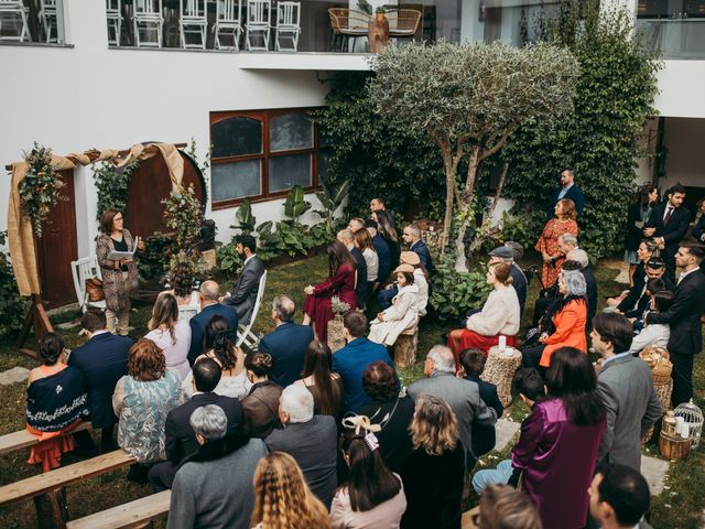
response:
{"label": "man in black suit standing at right edge above wicker baskets", "polygon": [[675,264],[683,271],[675,287],[675,299],[665,312],[649,312],[644,322],[671,326],[669,354],[673,363],[673,393],[676,407],[693,398],[693,355],[703,347],[701,314],[705,311],[705,274],[699,264],[705,257],[703,245],[683,244],[675,253]]}

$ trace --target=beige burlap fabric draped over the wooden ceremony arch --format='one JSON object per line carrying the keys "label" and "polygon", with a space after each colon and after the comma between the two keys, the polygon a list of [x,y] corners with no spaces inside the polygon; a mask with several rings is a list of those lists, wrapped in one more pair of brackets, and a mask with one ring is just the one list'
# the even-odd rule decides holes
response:
{"label": "beige burlap fabric draped over the wooden ceremony arch", "polygon": [[[121,168],[135,158],[147,160],[161,154],[169,169],[172,188],[181,185],[184,176],[184,159],[181,158],[176,145],[171,143],[138,143],[130,148],[124,158],[119,158],[120,151],[107,149],[104,151],[89,150],[82,153],[70,153],[66,156],[52,155],[52,165],[58,171],[74,169],[76,165],[88,165],[99,161],[111,161]],[[34,236],[32,223],[22,215],[22,202],[20,201],[20,183],[24,180],[29,164],[17,162],[12,164],[12,179],[10,182],[10,202],[8,207],[8,245],[12,257],[12,269],[18,281],[18,290],[21,295],[40,293],[40,278],[36,267],[36,252],[34,251]]]}

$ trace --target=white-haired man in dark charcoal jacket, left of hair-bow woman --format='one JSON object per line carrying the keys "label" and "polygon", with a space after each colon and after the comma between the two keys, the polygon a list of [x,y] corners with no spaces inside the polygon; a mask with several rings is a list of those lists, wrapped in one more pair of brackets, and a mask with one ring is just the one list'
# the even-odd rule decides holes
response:
{"label": "white-haired man in dark charcoal jacket, left of hair-bow woman", "polygon": [[264,439],[270,452],[290,454],[301,467],[313,494],[328,508],[338,486],[338,430],[330,415],[313,414],[313,397],[299,385],[282,391],[279,419],[283,428]]}

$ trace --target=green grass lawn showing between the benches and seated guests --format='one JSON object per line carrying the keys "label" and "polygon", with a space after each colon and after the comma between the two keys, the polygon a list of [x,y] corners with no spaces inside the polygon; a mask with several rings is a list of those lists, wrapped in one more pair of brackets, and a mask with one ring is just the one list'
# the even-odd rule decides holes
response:
{"label": "green grass lawn showing between the benches and seated guests", "polygon": [[[268,274],[267,294],[260,309],[256,333],[268,333],[273,328],[271,321],[271,303],[274,295],[286,293],[292,295],[301,307],[304,300],[303,289],[310,283],[316,283],[325,278],[327,273],[327,262],[325,256],[318,256],[305,261],[284,264],[272,269]],[[606,294],[612,294],[623,289],[622,284],[614,281],[617,271],[599,263],[595,269],[595,274],[599,284],[600,302]],[[231,287],[234,278],[224,280],[223,291]],[[533,313],[533,302],[538,295],[538,282],[533,281],[529,290],[527,310],[523,315],[524,322],[531,322]],[[147,322],[150,316],[151,305],[138,304],[133,306],[130,316],[130,324],[134,330],[130,333],[133,337],[143,336],[147,333]],[[52,317],[52,323],[66,324],[77,322],[78,313],[64,313]],[[299,321],[301,321],[299,313]],[[441,335],[452,328],[454,323],[444,324],[440,322],[422,322],[419,341],[419,358],[423,358],[425,353],[433,346],[441,343]],[[66,339],[67,346],[76,347],[83,343],[78,336],[78,326],[59,330]],[[695,358],[694,384],[696,388],[696,403],[705,408],[705,360],[704,355]],[[26,368],[35,367],[35,363],[15,352],[14,337],[0,338],[0,371],[14,366]],[[423,361],[400,370],[400,376],[404,384],[411,384],[423,376]],[[0,387],[0,409],[4,410],[0,414],[0,434],[22,430],[24,428],[24,385]],[[521,421],[528,409],[514,400],[505,417],[511,417],[514,421]],[[488,465],[500,461],[499,457],[507,455],[507,449],[502,454],[491,454],[486,457]],[[654,528],[677,528],[697,529],[702,527],[703,510],[705,509],[705,455],[704,447],[701,446],[687,458],[671,466],[668,486],[663,494],[653,499],[651,523]],[[658,454],[658,446],[652,442],[647,447],[650,455]],[[29,451],[19,451],[10,455],[0,456],[0,485],[6,485],[23,477],[37,474],[35,468],[26,464]],[[497,457],[497,458],[494,458]],[[147,485],[135,485],[124,479],[127,469],[117,471],[111,474],[84,481],[68,487],[68,509],[70,518],[79,518],[91,512],[123,504],[131,499],[145,496],[151,493]],[[20,501],[9,507],[0,508],[0,526],[6,528],[35,527],[36,517],[32,500]]]}

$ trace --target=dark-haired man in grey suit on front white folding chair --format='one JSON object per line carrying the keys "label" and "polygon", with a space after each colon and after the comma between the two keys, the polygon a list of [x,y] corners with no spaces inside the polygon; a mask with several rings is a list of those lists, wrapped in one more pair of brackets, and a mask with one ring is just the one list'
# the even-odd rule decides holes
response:
{"label": "dark-haired man in grey suit on front white folding chair", "polygon": [[236,250],[245,257],[242,272],[240,272],[232,290],[220,300],[220,303],[235,306],[240,323],[247,325],[252,319],[260,279],[264,273],[264,264],[257,257],[257,240],[251,235],[240,236]]}

